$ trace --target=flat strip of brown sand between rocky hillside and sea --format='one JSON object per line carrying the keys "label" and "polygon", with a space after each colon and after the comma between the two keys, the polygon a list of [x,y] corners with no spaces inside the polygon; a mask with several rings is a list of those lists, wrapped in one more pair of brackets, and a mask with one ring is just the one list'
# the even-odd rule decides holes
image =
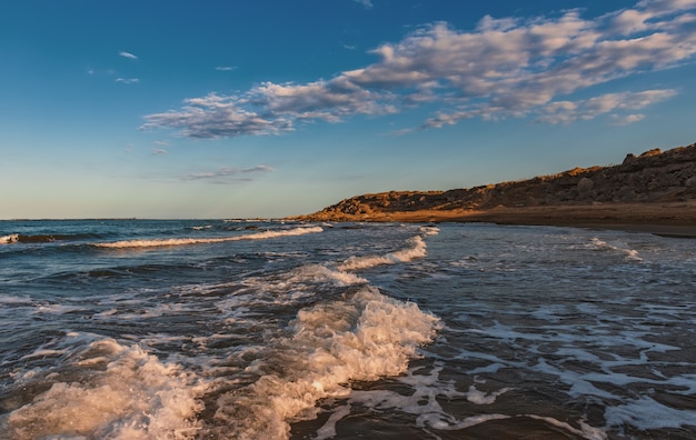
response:
{"label": "flat strip of brown sand between rocky hillside and sea", "polygon": [[696,201],[659,203],[558,204],[550,207],[498,207],[489,210],[415,210],[370,216],[321,218],[314,221],[368,222],[490,222],[497,224],[557,226],[618,229],[665,237],[696,238]]}

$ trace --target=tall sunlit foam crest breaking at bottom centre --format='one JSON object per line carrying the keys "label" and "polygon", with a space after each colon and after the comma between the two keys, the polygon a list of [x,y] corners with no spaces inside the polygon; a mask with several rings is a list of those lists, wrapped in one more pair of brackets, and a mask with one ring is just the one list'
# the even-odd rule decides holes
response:
{"label": "tall sunlit foam crest breaking at bottom centre", "polygon": [[289,420],[314,418],[319,399],[348,393],[345,383],[405,372],[438,326],[416,304],[367,287],[352,298],[300,310],[294,334],[275,349],[282,371],[222,397],[216,418],[228,426],[228,437],[288,438]]}

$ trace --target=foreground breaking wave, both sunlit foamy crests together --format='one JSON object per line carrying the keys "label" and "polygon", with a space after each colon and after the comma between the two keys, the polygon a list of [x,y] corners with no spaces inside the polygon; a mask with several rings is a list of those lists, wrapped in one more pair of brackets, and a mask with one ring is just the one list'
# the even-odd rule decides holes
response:
{"label": "foreground breaking wave, both sunlit foamy crests together", "polygon": [[[365,286],[299,310],[285,337],[248,346],[259,357],[231,377],[163,362],[141,344],[70,332],[27,356],[66,364],[14,374],[13,392],[40,391],[0,417],[0,439],[287,439],[290,422],[314,419],[317,402],[347,396],[351,381],[406,372],[440,327],[417,304]],[[249,376],[256,379],[240,386]]]}

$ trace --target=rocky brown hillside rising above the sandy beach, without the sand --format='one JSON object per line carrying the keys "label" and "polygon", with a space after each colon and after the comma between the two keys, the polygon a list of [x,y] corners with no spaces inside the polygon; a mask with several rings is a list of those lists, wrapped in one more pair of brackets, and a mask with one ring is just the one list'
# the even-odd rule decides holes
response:
{"label": "rocky brown hillside rising above the sandy beach, without the sand", "polygon": [[370,220],[418,210],[489,210],[596,203],[696,200],[696,143],[627,154],[622,164],[449,191],[390,191],[342,200],[304,220]]}

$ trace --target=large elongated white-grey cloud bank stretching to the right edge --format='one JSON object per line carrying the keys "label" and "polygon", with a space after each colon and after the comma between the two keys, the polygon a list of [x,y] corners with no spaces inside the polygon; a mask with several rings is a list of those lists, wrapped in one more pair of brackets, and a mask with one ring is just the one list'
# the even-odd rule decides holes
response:
{"label": "large elongated white-grey cloud bank stretching to the right edge", "polygon": [[142,127],[192,138],[279,134],[304,122],[436,106],[434,117],[406,130],[415,131],[471,118],[567,123],[642,109],[676,92],[579,96],[593,86],[693,62],[696,0],[643,0],[593,19],[580,10],[484,17],[467,31],[438,22],[372,52],[379,61],[332,79],[262,82],[237,96],[187,99],[181,109],[146,116]]}

